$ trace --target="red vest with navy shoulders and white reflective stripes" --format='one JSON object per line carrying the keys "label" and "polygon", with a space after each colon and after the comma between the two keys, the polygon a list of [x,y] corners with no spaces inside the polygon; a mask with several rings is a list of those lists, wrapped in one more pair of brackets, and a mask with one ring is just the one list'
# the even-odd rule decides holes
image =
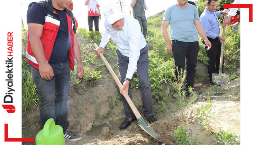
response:
{"label": "red vest with navy shoulders and white reflective stripes", "polygon": [[[29,4],[31,6],[35,2],[32,2]],[[45,16],[45,23],[43,27],[43,32],[41,35],[40,40],[42,41],[43,48],[44,48],[44,54],[46,57],[47,62],[49,61],[52,50],[53,50],[53,45],[58,33],[58,29],[60,27],[60,18],[56,11],[53,8],[52,1],[51,0],[45,0],[45,1],[40,1],[38,2],[43,9],[46,11],[46,16]],[[65,9],[66,12],[66,18],[67,18],[67,27],[68,27],[68,35],[70,38],[70,49],[68,52],[68,60],[69,60],[69,66],[71,70],[74,70],[74,30],[73,26],[74,20],[73,20],[73,13],[70,10]],[[29,33],[28,33],[29,36]],[[28,45],[27,45],[27,51],[26,51],[26,59],[29,64],[34,66],[35,68],[38,69],[38,62],[32,52],[31,45],[29,42],[29,37],[28,37]]]}

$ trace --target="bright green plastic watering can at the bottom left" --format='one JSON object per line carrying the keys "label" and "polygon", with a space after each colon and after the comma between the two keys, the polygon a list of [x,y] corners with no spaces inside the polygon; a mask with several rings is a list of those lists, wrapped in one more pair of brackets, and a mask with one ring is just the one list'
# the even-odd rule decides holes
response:
{"label": "bright green plastic watering can at the bottom left", "polygon": [[62,127],[55,125],[53,118],[48,119],[44,124],[44,129],[36,135],[36,144],[65,145]]}

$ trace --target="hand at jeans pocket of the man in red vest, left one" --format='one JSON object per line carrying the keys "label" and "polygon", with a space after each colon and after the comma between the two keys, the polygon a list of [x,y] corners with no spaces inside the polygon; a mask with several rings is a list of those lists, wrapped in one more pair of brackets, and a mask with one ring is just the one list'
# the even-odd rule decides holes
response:
{"label": "hand at jeans pocket of the man in red vest, left one", "polygon": [[54,76],[53,68],[45,62],[43,64],[38,64],[39,74],[43,79],[51,80]]}

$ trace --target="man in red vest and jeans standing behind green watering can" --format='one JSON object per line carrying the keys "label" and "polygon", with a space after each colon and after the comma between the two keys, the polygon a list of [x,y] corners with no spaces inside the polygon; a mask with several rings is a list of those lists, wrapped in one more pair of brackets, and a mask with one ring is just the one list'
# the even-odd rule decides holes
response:
{"label": "man in red vest and jeans standing behind green watering can", "polygon": [[63,128],[65,139],[78,141],[82,137],[67,129],[67,96],[74,59],[78,77],[84,72],[73,13],[67,9],[71,1],[44,0],[29,4],[26,58],[40,97],[41,127],[53,118]]}

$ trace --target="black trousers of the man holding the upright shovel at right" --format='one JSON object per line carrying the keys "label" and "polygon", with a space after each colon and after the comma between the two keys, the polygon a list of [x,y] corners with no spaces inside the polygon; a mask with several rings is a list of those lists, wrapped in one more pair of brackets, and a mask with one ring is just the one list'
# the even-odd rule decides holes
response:
{"label": "black trousers of the man holding the upright shovel at right", "polygon": [[[207,38],[212,44],[211,49],[206,50],[207,57],[210,58],[210,60],[208,60],[209,65],[207,65],[207,68],[208,68],[210,82],[212,82],[212,73],[218,74],[219,70],[220,70],[221,43],[220,43],[219,38],[217,38],[217,37],[215,39],[212,39],[210,37],[207,37]],[[204,49],[207,49],[208,47],[205,45],[204,40],[203,39],[201,39],[201,40],[204,45]],[[223,66],[222,66],[222,68],[223,68]]]}

